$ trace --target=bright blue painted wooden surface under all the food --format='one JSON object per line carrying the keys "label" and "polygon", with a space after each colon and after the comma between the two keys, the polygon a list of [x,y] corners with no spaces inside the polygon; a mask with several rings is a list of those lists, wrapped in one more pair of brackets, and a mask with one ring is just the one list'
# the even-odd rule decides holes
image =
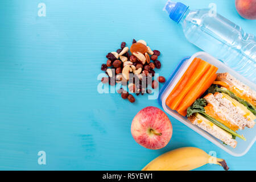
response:
{"label": "bright blue painted wooden surface under all the food", "polygon": [[[38,16],[38,4],[46,16]],[[191,9],[212,0],[181,2]],[[134,115],[156,100],[134,104],[97,92],[106,53],[123,41],[144,39],[162,52],[164,77],[180,59],[200,51],[162,11],[166,0],[0,1],[0,169],[139,170],[163,152],[195,146],[216,151],[230,170],[255,170],[256,145],[233,157],[169,115],[174,129],[161,150],[147,150],[131,137]],[[218,13],[256,34],[255,20],[242,19],[234,1],[214,1]],[[46,152],[46,165],[38,152]],[[222,170],[207,165],[197,170]]]}

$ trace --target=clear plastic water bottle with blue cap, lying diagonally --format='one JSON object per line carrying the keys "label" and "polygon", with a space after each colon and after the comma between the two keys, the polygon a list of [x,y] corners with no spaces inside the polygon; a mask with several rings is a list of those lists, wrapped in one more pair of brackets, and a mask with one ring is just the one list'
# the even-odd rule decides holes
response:
{"label": "clear plastic water bottle with blue cap, lying diagonally", "polygon": [[256,38],[210,9],[189,10],[180,2],[168,1],[164,10],[183,27],[189,42],[223,61],[256,82]]}

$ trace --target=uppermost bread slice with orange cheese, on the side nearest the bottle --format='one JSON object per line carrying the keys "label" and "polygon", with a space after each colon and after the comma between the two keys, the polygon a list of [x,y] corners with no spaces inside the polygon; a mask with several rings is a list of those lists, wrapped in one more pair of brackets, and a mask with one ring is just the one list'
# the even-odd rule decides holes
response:
{"label": "uppermost bread slice with orange cheese, on the side nearest the bottle", "polygon": [[243,84],[229,73],[217,73],[216,81],[213,84],[224,86],[237,97],[249,102],[254,107],[256,106],[256,92],[249,86]]}

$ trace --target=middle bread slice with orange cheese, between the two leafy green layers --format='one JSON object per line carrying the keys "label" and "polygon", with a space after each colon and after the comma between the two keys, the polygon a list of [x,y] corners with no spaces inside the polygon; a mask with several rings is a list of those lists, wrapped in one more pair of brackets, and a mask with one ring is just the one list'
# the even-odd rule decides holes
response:
{"label": "middle bread slice with orange cheese, between the two leafy green layers", "polygon": [[210,117],[213,117],[233,131],[245,128],[246,119],[242,122],[238,121],[237,117],[233,115],[232,111],[230,111],[230,108],[222,105],[218,100],[216,100],[212,93],[207,94],[204,99],[208,103],[208,105],[204,107],[205,113],[210,115]]}

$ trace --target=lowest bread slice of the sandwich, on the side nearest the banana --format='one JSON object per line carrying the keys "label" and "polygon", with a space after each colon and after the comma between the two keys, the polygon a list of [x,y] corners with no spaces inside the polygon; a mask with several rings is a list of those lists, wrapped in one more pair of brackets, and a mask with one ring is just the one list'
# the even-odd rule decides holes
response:
{"label": "lowest bread slice of the sandwich, on the side nearest the banana", "polygon": [[207,131],[209,134],[213,135],[213,137],[220,139],[225,144],[228,144],[233,148],[237,146],[237,141],[233,139],[232,134],[214,125],[214,123],[203,117],[203,115],[196,113],[195,115],[191,115],[190,117],[188,117],[188,119],[193,125],[196,125],[201,129]]}

